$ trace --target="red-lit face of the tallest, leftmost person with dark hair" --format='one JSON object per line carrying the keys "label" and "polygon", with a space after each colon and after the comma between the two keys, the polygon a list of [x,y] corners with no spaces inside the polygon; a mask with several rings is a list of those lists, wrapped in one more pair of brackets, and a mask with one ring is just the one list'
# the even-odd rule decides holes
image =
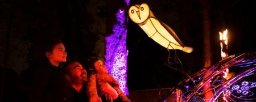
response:
{"label": "red-lit face of the tallest, leftmost person with dark hair", "polygon": [[67,52],[65,52],[65,46],[63,43],[56,44],[51,53],[51,59],[54,62],[66,62]]}

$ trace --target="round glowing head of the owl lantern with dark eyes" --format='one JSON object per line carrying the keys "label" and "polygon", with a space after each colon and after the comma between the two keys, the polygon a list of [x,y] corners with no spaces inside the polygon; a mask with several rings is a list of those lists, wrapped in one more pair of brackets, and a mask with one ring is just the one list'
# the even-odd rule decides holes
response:
{"label": "round glowing head of the owl lantern with dark eyes", "polygon": [[131,6],[129,9],[129,16],[131,20],[138,24],[145,22],[148,19],[149,15],[150,8],[146,3]]}

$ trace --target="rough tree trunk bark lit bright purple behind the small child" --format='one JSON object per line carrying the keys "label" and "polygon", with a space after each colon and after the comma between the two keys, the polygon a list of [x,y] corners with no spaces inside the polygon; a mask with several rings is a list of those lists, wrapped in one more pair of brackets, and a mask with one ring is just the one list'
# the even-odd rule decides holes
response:
{"label": "rough tree trunk bark lit bright purple behind the small child", "polygon": [[112,35],[106,37],[106,67],[108,72],[119,82],[120,88],[128,95],[127,78],[127,54],[126,35],[127,23],[125,10],[119,10],[116,14],[117,23],[113,27]]}

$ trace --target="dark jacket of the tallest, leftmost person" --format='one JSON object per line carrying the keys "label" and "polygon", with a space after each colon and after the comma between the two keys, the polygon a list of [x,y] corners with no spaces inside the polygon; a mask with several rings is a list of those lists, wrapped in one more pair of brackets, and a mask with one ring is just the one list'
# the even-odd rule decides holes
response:
{"label": "dark jacket of the tallest, leftmost person", "polygon": [[72,101],[72,92],[60,67],[46,63],[35,69],[30,89],[31,102]]}

